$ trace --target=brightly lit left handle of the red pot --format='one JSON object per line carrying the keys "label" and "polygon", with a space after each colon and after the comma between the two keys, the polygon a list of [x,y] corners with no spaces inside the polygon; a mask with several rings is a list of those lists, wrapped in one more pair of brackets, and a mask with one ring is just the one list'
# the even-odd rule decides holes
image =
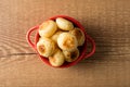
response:
{"label": "brightly lit left handle of the red pot", "polygon": [[28,32],[27,32],[27,35],[26,35],[26,39],[27,39],[27,42],[29,44],[29,46],[31,46],[34,49],[36,49],[35,47],[35,44],[30,40],[30,34],[34,32],[34,30],[37,30],[39,26],[35,26],[32,28],[30,28]]}

